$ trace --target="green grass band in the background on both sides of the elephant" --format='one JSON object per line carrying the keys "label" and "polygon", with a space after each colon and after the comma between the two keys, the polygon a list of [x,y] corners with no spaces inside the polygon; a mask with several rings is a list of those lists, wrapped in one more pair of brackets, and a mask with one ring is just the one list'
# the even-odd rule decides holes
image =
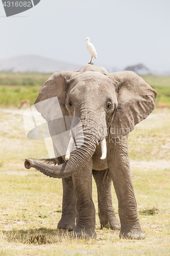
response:
{"label": "green grass band in the background on both sides of the elephant", "polygon": [[[0,72],[0,105],[17,107],[25,99],[33,104],[42,84],[51,75],[38,72]],[[156,104],[161,102],[170,106],[170,76],[148,74],[142,78],[157,92]]]}

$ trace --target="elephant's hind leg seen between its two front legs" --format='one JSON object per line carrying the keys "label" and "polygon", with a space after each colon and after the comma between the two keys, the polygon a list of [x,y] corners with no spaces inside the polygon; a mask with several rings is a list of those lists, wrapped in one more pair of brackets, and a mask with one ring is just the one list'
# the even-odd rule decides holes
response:
{"label": "elephant's hind leg seen between its two front legs", "polygon": [[120,222],[112,207],[112,179],[109,170],[93,170],[92,174],[98,189],[98,212],[101,228],[120,229]]}

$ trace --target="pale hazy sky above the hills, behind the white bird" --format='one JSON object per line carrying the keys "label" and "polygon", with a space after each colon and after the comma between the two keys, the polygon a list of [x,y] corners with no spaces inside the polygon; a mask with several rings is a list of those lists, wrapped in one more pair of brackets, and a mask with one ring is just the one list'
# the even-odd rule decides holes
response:
{"label": "pale hazy sky above the hills, behind the white bird", "polygon": [[[18,0],[19,1],[19,0]],[[36,54],[80,63],[125,68],[143,63],[170,70],[169,0],[41,0],[34,8],[5,17],[0,2],[0,59]]]}

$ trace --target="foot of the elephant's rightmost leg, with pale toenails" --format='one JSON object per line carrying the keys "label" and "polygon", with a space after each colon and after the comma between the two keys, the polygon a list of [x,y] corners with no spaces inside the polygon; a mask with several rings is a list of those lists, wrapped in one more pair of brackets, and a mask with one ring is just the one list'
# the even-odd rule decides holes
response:
{"label": "foot of the elephant's rightmost leg, with pale toenails", "polygon": [[120,238],[124,239],[144,239],[145,234],[141,229],[132,229],[132,230],[127,230],[127,229],[121,229]]}

